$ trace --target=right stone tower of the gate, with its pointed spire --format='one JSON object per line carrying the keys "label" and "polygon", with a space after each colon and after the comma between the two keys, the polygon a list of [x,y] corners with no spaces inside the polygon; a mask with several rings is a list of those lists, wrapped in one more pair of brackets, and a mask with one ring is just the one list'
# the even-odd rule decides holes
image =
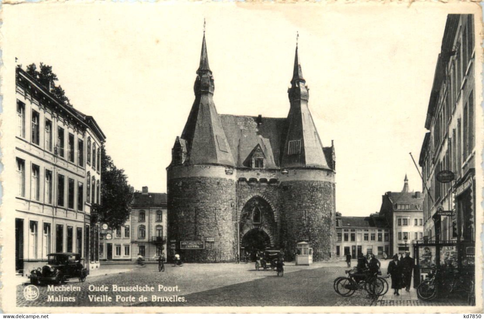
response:
{"label": "right stone tower of the gate, with its pointed spire", "polygon": [[[324,148],[308,108],[309,89],[302,76],[298,47],[294,58],[290,109],[281,167],[282,245],[311,243],[315,260],[333,256],[335,223],[334,147]],[[331,166],[328,165],[331,161]]]}

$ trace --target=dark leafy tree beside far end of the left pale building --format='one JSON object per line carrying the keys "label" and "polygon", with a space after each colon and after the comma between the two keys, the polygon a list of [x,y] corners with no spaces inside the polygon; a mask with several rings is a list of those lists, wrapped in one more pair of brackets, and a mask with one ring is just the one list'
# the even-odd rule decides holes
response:
{"label": "dark leafy tree beside far end of the left pale building", "polygon": [[112,229],[124,225],[131,213],[133,190],[124,170],[114,165],[110,156],[101,148],[101,204],[95,207],[104,222]]}

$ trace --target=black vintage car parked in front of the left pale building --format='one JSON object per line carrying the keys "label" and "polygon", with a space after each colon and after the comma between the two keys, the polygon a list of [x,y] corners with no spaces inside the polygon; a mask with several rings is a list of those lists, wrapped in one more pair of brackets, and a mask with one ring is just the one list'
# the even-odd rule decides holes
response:
{"label": "black vintage car parked in front of the left pale building", "polygon": [[42,268],[30,272],[30,283],[39,285],[46,282],[54,282],[60,285],[66,279],[78,278],[80,282],[86,280],[89,269],[82,265],[81,254],[55,253],[47,255],[47,264]]}

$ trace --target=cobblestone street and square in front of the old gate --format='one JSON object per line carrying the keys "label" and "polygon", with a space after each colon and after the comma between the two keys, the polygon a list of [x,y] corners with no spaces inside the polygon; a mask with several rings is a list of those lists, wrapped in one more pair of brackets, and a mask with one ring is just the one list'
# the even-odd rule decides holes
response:
{"label": "cobblestone street and square in front of the old gate", "polygon": [[[345,275],[343,263],[315,263],[295,266],[287,263],[284,277],[275,271],[256,271],[248,264],[184,264],[166,265],[159,273],[157,265],[103,265],[108,275],[88,276],[84,283],[73,279],[61,290],[47,291],[39,286],[37,300],[27,301],[17,286],[19,306],[418,306],[459,305],[455,302],[423,303],[418,300],[378,300],[358,290],[350,297],[341,297],[333,290],[333,280]],[[109,269],[107,269],[109,268]],[[116,269],[124,271],[116,273]],[[126,272],[126,268],[133,268]],[[113,291],[112,285],[138,286],[153,291]],[[160,287],[162,285],[163,287]],[[97,291],[89,291],[89,289]],[[159,288],[166,291],[158,291]],[[105,290],[105,291],[100,291]],[[138,288],[138,290],[140,290]],[[392,290],[390,290],[391,292]],[[91,297],[90,297],[91,296]],[[117,297],[118,296],[118,297]],[[142,299],[142,296],[146,299]],[[154,296],[154,297],[152,297]],[[141,297],[141,299],[140,299]],[[71,298],[70,300],[68,298]],[[110,299],[109,299],[110,298]],[[152,299],[154,298],[154,299]]]}

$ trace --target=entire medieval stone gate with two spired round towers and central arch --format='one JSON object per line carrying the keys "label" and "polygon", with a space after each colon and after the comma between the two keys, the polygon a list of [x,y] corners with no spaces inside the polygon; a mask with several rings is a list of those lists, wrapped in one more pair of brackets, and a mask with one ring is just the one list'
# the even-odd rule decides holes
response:
{"label": "entire medieval stone gate with two spired round towers and central arch", "polygon": [[169,254],[234,261],[244,251],[308,242],[334,257],[335,156],[308,108],[298,49],[287,118],[219,115],[203,37],[195,102],[167,168]]}

